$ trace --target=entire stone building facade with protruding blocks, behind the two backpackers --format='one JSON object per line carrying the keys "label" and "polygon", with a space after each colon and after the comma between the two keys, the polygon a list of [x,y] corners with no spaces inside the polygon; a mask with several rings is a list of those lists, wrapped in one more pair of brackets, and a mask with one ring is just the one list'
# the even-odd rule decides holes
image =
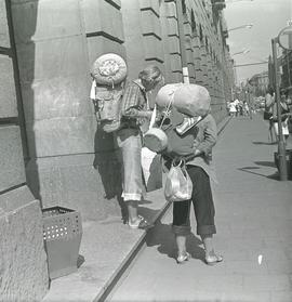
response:
{"label": "entire stone building facade with protruding blocks, behind the two backpackers", "polygon": [[129,78],[157,64],[177,82],[185,68],[209,89],[216,121],[226,116],[233,68],[222,2],[0,0],[2,300],[48,290],[41,208],[72,208],[84,221],[123,211],[114,136],[98,129],[89,100],[98,55],[121,55]]}

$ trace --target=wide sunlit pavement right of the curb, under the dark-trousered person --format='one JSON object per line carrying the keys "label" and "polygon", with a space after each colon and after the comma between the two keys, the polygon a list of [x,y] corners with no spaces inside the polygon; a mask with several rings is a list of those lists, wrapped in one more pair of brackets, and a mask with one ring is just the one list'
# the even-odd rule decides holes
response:
{"label": "wide sunlit pavement right of the curb, under the dark-trousered person", "polygon": [[292,181],[278,180],[275,149],[261,114],[233,118],[213,154],[214,246],[224,261],[205,265],[191,211],[191,259],[177,265],[170,208],[107,301],[291,302]]}

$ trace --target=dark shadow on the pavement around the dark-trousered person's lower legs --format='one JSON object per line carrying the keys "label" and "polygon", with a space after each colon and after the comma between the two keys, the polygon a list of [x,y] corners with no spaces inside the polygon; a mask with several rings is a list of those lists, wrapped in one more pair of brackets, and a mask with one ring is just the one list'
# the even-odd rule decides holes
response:
{"label": "dark shadow on the pavement around the dark-trousered person's lower legs", "polygon": [[[157,250],[160,253],[167,254],[169,258],[174,260],[177,257],[171,224],[163,224],[161,221],[157,221],[156,226],[148,231],[146,245],[147,247],[158,246]],[[204,250],[200,247],[200,245],[202,245],[202,241],[193,233],[187,237],[187,251],[191,254],[191,258],[199,259],[204,262]]]}

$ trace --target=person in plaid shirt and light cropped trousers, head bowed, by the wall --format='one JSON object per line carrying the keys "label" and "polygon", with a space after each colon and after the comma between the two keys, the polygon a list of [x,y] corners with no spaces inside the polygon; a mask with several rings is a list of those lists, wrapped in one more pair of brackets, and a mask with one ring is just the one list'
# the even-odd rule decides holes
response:
{"label": "person in plaid shirt and light cropped trousers, head bowed, by the wall", "polygon": [[142,131],[141,127],[150,120],[147,92],[154,90],[162,80],[157,66],[150,65],[138,74],[136,80],[125,88],[121,105],[121,128],[117,132],[117,143],[122,154],[123,193],[127,203],[130,228],[146,229],[152,225],[138,215],[138,201],[142,199],[143,180],[141,168]]}

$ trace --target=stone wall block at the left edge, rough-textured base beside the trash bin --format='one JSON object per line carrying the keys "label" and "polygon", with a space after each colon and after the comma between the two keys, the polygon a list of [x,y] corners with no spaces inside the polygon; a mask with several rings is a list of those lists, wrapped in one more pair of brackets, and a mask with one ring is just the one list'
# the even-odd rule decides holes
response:
{"label": "stone wall block at the left edge, rough-textured base beside the trash bin", "polygon": [[0,0],[0,301],[40,301],[49,288],[40,201],[26,185],[10,1]]}

